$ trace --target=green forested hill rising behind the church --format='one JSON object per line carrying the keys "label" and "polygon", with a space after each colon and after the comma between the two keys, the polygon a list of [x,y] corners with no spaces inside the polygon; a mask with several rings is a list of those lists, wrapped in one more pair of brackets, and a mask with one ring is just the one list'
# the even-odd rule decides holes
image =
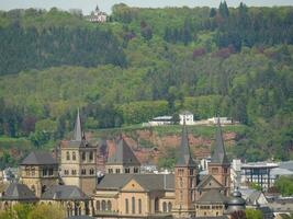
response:
{"label": "green forested hill rising behind the church", "polygon": [[104,24],[0,12],[0,135],[52,146],[181,110],[246,124],[234,153],[293,159],[293,8],[113,7]]}

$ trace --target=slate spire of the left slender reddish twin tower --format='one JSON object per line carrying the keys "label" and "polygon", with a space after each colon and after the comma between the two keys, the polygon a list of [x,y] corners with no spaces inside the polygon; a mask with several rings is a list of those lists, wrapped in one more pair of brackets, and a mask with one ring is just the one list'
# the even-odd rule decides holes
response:
{"label": "slate spire of the left slender reddish twin tower", "polygon": [[190,153],[189,137],[188,137],[185,120],[184,120],[183,128],[182,128],[181,143],[180,143],[179,155],[178,155],[176,165],[177,166],[196,166]]}

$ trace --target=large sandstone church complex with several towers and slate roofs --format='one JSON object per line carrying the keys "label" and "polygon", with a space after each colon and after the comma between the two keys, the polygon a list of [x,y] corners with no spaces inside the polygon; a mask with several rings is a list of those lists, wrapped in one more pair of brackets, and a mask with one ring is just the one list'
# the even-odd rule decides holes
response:
{"label": "large sandstone church complex with several towers and slate roofs", "polygon": [[58,153],[32,152],[20,165],[20,181],[1,193],[0,209],[16,203],[57,204],[66,217],[93,218],[229,218],[245,209],[241,194],[230,196],[230,164],[219,122],[209,174],[199,174],[183,124],[174,170],[170,174],[140,173],[140,163],[122,136],[97,175],[99,145],[89,142],[79,112],[71,140]]}

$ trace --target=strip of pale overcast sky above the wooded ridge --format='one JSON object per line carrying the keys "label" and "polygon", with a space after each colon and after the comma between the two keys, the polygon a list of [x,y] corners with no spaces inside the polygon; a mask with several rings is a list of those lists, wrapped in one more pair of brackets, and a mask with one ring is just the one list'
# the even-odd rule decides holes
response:
{"label": "strip of pale overcast sky above the wooded ridge", "polygon": [[[111,7],[115,3],[124,2],[133,7],[218,7],[221,0],[0,0],[0,10],[11,9],[50,9],[57,7],[63,10],[81,9],[83,14],[92,11],[97,4],[102,11],[111,12]],[[226,0],[228,7],[237,7],[240,2],[247,5],[293,5],[293,0]]]}

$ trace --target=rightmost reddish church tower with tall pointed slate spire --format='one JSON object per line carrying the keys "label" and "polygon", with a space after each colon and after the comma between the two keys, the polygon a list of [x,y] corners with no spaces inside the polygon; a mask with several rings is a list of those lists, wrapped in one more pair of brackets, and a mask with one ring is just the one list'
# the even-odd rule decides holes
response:
{"label": "rightmost reddish church tower with tall pointed slate spire", "polygon": [[217,118],[215,150],[209,163],[209,174],[214,176],[214,178],[224,186],[225,195],[228,195],[230,187],[230,163],[224,147],[219,118]]}

